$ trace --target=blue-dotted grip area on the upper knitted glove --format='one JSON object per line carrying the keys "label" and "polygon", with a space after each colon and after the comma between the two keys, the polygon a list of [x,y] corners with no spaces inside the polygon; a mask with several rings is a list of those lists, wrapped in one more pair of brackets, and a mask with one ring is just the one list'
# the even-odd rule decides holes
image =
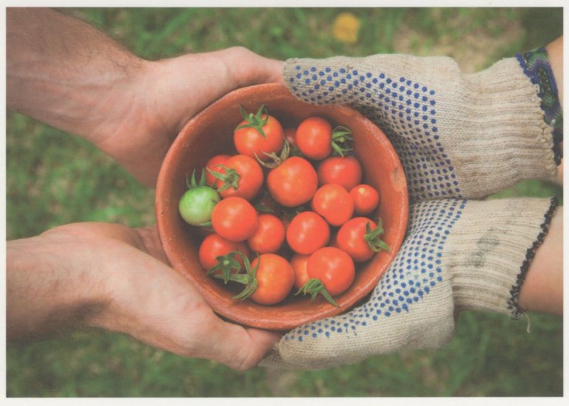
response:
{"label": "blue-dotted grip area on the upper knitted glove", "polygon": [[405,168],[411,202],[462,198],[437,127],[437,93],[427,85],[385,73],[294,66],[289,88],[307,103],[348,103],[376,122]]}

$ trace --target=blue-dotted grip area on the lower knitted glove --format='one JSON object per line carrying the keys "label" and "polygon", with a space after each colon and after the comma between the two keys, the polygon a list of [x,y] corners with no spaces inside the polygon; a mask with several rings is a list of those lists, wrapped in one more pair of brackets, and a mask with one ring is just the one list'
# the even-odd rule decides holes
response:
{"label": "blue-dotted grip area on the lower knitted glove", "polygon": [[405,243],[373,290],[370,300],[344,316],[314,321],[292,330],[284,339],[303,341],[307,338],[329,338],[333,334],[357,335],[358,326],[409,313],[414,303],[420,302],[444,280],[442,250],[466,205],[465,199],[415,204],[410,211],[411,227]]}

